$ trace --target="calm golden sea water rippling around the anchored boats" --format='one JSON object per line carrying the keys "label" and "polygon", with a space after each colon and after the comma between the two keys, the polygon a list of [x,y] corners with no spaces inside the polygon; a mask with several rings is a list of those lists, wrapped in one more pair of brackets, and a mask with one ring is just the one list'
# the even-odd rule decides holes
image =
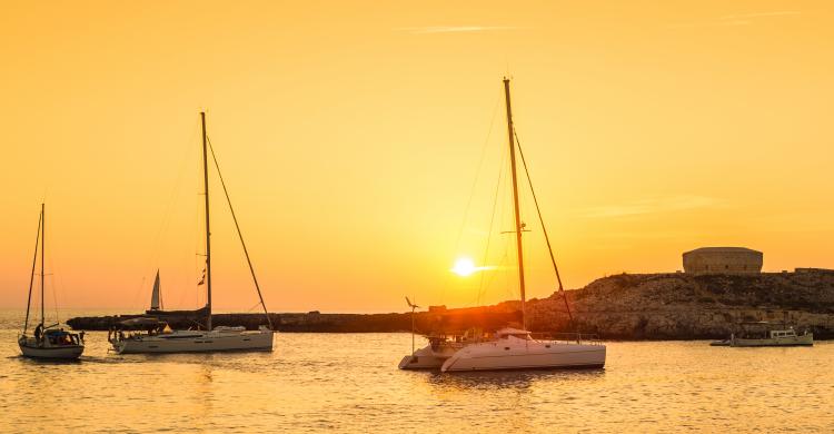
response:
{"label": "calm golden sea water rippling around the anchored boats", "polygon": [[[834,432],[834,343],[609,343],[600,371],[397,369],[408,334],[279,334],[274,353],[19,356],[0,314],[0,432]],[[418,339],[418,343],[421,339]]]}

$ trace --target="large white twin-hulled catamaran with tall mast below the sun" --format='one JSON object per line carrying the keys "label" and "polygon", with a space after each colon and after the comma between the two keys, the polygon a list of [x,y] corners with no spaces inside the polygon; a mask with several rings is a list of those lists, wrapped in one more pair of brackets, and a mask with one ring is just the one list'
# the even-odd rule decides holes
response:
{"label": "large white twin-hulled catamaran with tall mast below the sun", "polygon": [[[509,79],[504,79],[504,96],[507,111],[507,132],[509,141],[509,162],[512,174],[512,189],[514,203],[514,217],[516,235],[516,256],[518,266],[518,283],[520,292],[522,325],[523,328],[502,328],[489,336],[476,336],[473,339],[448,339],[435,338],[430,344],[418,351],[413,351],[410,356],[400,361],[401,369],[416,368],[440,368],[441,372],[461,372],[461,371],[502,371],[502,369],[543,369],[543,368],[600,368],[605,366],[606,347],[596,338],[583,339],[583,336],[576,334],[568,339],[539,339],[534,338],[527,328],[526,317],[526,294],[525,294],[525,274],[524,274],[524,254],[522,235],[526,231],[526,225],[522,221],[520,209],[518,205],[518,180],[516,151],[518,151],[525,171],[527,164],[524,160],[524,152],[520,145],[517,146],[517,135],[513,125],[513,110],[509,97]],[[518,148],[518,149],[516,149]],[[529,174],[527,174],[529,181]],[[550,248],[550,240],[538,208],[538,200],[533,184],[530,191],[533,201],[536,205],[542,229],[547,241],[550,260],[556,273],[558,290],[563,294],[565,307],[572,317],[567,297],[564,294],[562,277],[559,276],[556,259]],[[573,320],[570,322],[573,324]]]}

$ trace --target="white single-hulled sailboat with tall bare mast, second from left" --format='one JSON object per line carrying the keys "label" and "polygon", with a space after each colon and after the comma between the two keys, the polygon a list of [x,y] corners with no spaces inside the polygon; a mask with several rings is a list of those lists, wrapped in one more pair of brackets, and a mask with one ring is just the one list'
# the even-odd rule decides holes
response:
{"label": "white single-hulled sailboat with tall bare mast, second from left", "polygon": [[[115,333],[110,336],[110,343],[113,349],[119,354],[131,354],[131,353],[196,353],[196,352],[221,352],[221,351],[272,351],[272,324],[269,319],[269,313],[267,312],[266,304],[264,303],[264,296],[258,285],[258,278],[255,275],[255,268],[249,259],[249,253],[244,243],[244,236],[240,233],[240,226],[238,225],[235,210],[231,207],[231,200],[229,194],[226,190],[226,184],[220,175],[220,168],[217,164],[217,158],[211,149],[212,159],[218,170],[220,184],[224,187],[226,199],[229,204],[232,220],[238,233],[241,245],[244,246],[244,253],[246,260],[251,272],[255,287],[258,292],[260,305],[264,307],[264,314],[266,316],[267,325],[261,325],[257,331],[246,331],[245,327],[211,327],[211,231],[210,231],[210,213],[209,213],[209,176],[208,176],[208,151],[210,144],[206,134],[206,114],[200,112],[200,121],[202,127],[202,175],[203,175],[203,198],[205,198],[205,218],[206,218],[206,273],[205,283],[207,292],[206,306],[198,309],[191,310],[190,313],[198,312],[205,313],[205,329],[189,329],[189,331],[172,331],[168,327],[165,322],[157,320],[156,318],[133,318],[136,325],[146,325],[149,327],[148,333],[129,334]],[[153,284],[153,293],[151,295],[151,309],[148,314],[172,314],[160,310],[160,295],[159,295],[159,272],[157,272],[157,278]],[[176,313],[176,312],[175,312]],[[143,322],[142,322],[143,320]],[[141,324],[140,324],[141,323]]]}

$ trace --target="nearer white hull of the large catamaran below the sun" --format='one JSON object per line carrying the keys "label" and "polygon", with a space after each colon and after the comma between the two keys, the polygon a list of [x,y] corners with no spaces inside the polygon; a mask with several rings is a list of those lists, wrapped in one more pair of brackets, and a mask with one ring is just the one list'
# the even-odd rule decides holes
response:
{"label": "nearer white hull of the large catamaran below the sun", "polygon": [[510,338],[469,345],[449,357],[441,372],[602,368],[605,345]]}

